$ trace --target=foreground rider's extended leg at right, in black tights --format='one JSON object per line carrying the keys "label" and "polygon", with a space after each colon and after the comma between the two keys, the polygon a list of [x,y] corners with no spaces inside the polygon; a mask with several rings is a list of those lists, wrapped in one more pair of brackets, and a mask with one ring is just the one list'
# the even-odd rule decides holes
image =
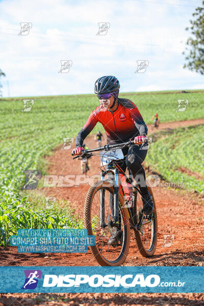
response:
{"label": "foreground rider's extended leg at right, in black tights", "polygon": [[[142,166],[147,154],[148,145],[139,145],[130,147],[126,156],[126,166],[131,170],[133,179],[136,181],[142,195],[143,211],[145,214],[150,214],[153,209],[152,197],[146,186],[145,171]],[[134,184],[134,182],[133,182]]]}

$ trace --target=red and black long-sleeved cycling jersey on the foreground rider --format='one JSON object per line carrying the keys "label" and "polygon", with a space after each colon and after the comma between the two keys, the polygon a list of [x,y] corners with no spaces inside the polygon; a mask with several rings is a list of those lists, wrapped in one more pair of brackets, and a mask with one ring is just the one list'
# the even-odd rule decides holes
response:
{"label": "red and black long-sleeved cycling jersey on the foreground rider", "polygon": [[107,143],[115,144],[129,141],[139,135],[147,135],[147,126],[137,108],[129,99],[118,98],[118,107],[114,112],[102,105],[93,110],[76,138],[76,147],[81,147],[84,139],[100,122],[106,131]]}

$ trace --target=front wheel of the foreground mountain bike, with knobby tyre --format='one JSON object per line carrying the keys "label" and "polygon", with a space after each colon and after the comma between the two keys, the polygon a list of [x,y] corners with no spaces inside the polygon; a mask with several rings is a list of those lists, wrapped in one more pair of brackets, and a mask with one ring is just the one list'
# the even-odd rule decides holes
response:
{"label": "front wheel of the foreground mountain bike, with knobby tyre", "polygon": [[[126,208],[123,208],[123,200],[119,194],[119,222],[122,236],[120,243],[109,245],[108,240],[112,235],[113,226],[113,183],[108,180],[93,184],[87,193],[84,205],[84,227],[88,235],[95,236],[95,245],[90,250],[96,261],[101,266],[119,266],[127,256],[130,245],[130,224]],[[101,198],[103,198],[104,210],[101,211]],[[104,217],[101,217],[101,216]],[[101,220],[105,225],[101,225]]]}

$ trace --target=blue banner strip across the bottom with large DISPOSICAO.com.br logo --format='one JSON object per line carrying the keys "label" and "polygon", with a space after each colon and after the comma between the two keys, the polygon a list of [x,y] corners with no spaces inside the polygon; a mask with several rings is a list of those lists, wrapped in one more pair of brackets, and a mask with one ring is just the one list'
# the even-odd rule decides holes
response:
{"label": "blue banner strip across the bottom with large DISPOSICAO.com.br logo", "polygon": [[203,293],[204,267],[0,267],[1,293]]}

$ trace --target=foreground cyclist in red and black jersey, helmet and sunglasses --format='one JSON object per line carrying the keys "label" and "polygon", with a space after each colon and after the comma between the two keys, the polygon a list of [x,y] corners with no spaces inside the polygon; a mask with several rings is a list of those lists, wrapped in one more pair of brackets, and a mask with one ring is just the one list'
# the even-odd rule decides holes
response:
{"label": "foreground cyclist in red and black jersey, helmet and sunglasses", "polygon": [[[106,131],[107,143],[117,144],[134,140],[135,146],[124,148],[123,154],[126,157],[120,167],[125,172],[126,167],[131,170],[133,178],[137,183],[143,202],[143,212],[148,215],[152,213],[153,201],[145,182],[145,171],[142,167],[148,145],[142,147],[147,135],[147,126],[137,108],[129,99],[118,98],[120,84],[112,75],[101,77],[96,80],[94,92],[96,93],[100,105],[90,114],[76,138],[76,148],[72,150],[73,155],[81,155],[84,139],[93,130],[97,122],[100,122]],[[109,244],[117,244],[122,235],[122,231],[115,227]]]}

